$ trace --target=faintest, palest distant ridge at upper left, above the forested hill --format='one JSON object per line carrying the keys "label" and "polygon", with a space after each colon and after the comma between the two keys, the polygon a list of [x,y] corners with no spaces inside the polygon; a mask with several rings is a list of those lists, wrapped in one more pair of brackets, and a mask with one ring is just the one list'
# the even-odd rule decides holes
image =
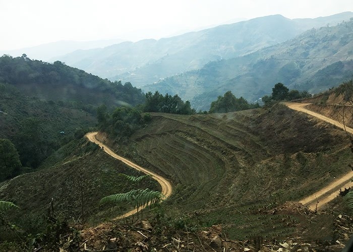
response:
{"label": "faintest, palest distant ridge at upper left, above the forested hill", "polygon": [[124,40],[122,39],[106,39],[95,41],[63,40],[15,50],[2,50],[0,51],[0,55],[7,54],[13,57],[17,57],[25,53],[29,58],[32,59],[55,61],[52,60],[53,57],[62,56],[78,49],[105,47],[108,45],[121,43],[123,41]]}

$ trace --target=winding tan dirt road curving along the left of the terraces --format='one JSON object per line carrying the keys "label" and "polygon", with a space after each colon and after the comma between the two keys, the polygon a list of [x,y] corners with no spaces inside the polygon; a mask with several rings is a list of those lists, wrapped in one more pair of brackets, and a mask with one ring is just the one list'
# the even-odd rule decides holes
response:
{"label": "winding tan dirt road curving along the left of the terraces", "polygon": [[[89,141],[99,145],[100,148],[104,147],[104,151],[109,154],[110,156],[112,156],[113,158],[115,159],[118,159],[124,163],[126,163],[127,165],[129,165],[130,167],[136,169],[136,170],[139,170],[139,171],[142,171],[143,173],[145,174],[148,174],[148,175],[151,175],[151,177],[155,180],[157,180],[157,182],[161,185],[162,187],[162,194],[164,195],[165,199],[168,198],[170,195],[171,195],[171,192],[172,192],[172,186],[170,184],[170,182],[165,179],[164,177],[162,176],[159,176],[158,174],[152,172],[152,171],[149,171],[133,162],[131,162],[130,160],[126,159],[126,158],[123,158],[117,154],[115,154],[112,150],[109,149],[108,146],[104,145],[103,143],[99,142],[97,139],[96,139],[96,135],[97,135],[98,132],[90,132],[90,133],[87,133],[86,134],[86,137],[88,138]],[[142,210],[144,207],[140,207],[139,208],[139,211]],[[137,213],[137,209],[134,209],[124,215],[121,215],[121,216],[118,216],[116,218],[114,218],[114,220],[117,220],[117,219],[123,219],[125,217],[128,217],[128,216],[131,216],[133,214]]]}

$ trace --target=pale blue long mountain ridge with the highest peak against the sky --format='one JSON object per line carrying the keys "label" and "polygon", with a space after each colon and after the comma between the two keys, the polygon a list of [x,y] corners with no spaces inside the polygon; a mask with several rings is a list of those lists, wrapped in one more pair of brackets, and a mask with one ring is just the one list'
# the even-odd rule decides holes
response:
{"label": "pale blue long mountain ridge with the highest peak against the sky", "polygon": [[103,78],[144,86],[211,60],[242,56],[299,35],[313,27],[349,20],[346,12],[316,19],[261,17],[160,40],[124,42],[105,48],[78,50],[56,59]]}

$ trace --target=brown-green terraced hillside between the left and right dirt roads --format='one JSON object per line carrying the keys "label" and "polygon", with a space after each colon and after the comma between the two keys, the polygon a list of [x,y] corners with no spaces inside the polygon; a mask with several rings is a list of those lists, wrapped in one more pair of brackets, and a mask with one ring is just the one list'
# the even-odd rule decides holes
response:
{"label": "brown-green terraced hillside between the left and right dirt roads", "polygon": [[[259,213],[299,201],[349,170],[349,143],[341,130],[281,105],[152,118],[127,148],[130,158],[174,184],[165,211],[227,224],[233,237],[267,232],[268,223],[277,227],[273,235],[293,232]],[[240,232],[245,223],[254,228]]]}

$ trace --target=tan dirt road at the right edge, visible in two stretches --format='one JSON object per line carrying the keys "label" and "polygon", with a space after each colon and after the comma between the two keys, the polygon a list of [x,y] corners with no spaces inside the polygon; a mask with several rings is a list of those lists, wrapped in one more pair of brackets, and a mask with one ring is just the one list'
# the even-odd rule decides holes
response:
{"label": "tan dirt road at the right edge, visible in two stretches", "polygon": [[[328,118],[322,114],[306,109],[305,106],[307,106],[309,103],[283,102],[283,104],[293,110],[310,114],[312,116],[319,118],[320,120],[329,122],[344,130],[344,125],[342,123],[332,120],[331,118]],[[353,129],[345,127],[345,130],[348,133],[353,134]],[[311,210],[315,210],[317,205],[317,209],[319,210],[326,203],[336,198],[340,189],[344,190],[345,187],[348,188],[349,186],[352,186],[353,185],[353,183],[351,182],[352,177],[353,177],[353,172],[349,171],[342,177],[337,178],[335,181],[333,181],[329,185],[322,188],[320,191],[308,196],[307,198],[301,200],[300,202],[303,205],[306,205],[307,207],[309,207]]]}

